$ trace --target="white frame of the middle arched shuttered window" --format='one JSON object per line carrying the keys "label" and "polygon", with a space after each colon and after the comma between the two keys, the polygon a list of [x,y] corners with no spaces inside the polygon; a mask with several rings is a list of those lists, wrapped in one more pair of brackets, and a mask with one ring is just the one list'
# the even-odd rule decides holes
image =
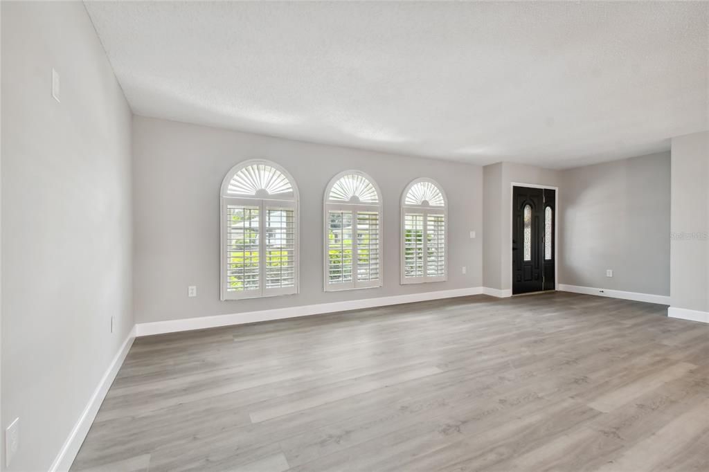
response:
{"label": "white frame of the middle arched shuttered window", "polygon": [[[349,202],[343,201],[331,201],[330,191],[337,181],[342,179],[342,177],[347,175],[359,175],[367,179],[374,190],[376,190],[377,203],[362,203],[357,200],[356,197],[350,198]],[[372,179],[372,176],[365,174],[364,172],[357,170],[346,170],[335,175],[330,179],[330,183],[325,187],[325,197],[323,198],[323,290],[326,292],[335,292],[343,290],[359,290],[362,288],[377,288],[381,287],[384,280],[384,223],[383,223],[383,204],[381,201],[381,190],[376,184],[376,181]],[[351,211],[352,212],[352,222],[355,226],[352,235],[352,281],[342,282],[342,283],[328,283],[329,270],[330,270],[330,252],[329,252],[329,241],[328,241],[328,213],[330,211]],[[369,280],[369,281],[358,281],[357,280],[357,236],[356,236],[356,225],[357,225],[357,212],[377,212],[379,213],[379,279]]]}

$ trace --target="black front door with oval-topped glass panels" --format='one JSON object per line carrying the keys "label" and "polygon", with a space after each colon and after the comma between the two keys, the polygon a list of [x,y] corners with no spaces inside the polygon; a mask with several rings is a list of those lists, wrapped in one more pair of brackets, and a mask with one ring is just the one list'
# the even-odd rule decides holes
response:
{"label": "black front door with oval-topped glass panels", "polygon": [[512,293],[554,290],[556,191],[515,186],[512,198]]}

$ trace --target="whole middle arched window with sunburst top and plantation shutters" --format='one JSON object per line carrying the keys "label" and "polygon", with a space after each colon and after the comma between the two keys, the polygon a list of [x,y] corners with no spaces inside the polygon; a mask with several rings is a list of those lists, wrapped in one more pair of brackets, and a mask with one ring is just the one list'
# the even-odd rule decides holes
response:
{"label": "whole middle arched window with sunburst top and plantation shutters", "polygon": [[381,286],[381,192],[358,171],[325,189],[325,291]]}

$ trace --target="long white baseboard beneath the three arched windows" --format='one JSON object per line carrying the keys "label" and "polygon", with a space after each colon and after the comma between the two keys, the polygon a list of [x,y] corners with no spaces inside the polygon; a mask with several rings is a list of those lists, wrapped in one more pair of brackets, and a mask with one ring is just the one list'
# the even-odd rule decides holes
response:
{"label": "long white baseboard beneath the three arched windows", "polygon": [[480,295],[482,287],[457,288],[454,290],[441,290],[433,292],[410,293],[408,295],[395,295],[378,298],[364,298],[362,300],[347,300],[333,303],[318,303],[317,305],[303,305],[288,308],[274,308],[273,310],[258,310],[229,315],[203,316],[199,318],[185,318],[184,320],[167,320],[135,325],[136,336],[162,335],[167,332],[190,330],[203,330],[211,327],[242,325],[258,321],[281,320],[296,318],[298,316],[320,315],[321,313],[334,313],[338,311],[359,310],[361,308],[374,308],[378,306],[399,305],[440,298],[464,297]]}

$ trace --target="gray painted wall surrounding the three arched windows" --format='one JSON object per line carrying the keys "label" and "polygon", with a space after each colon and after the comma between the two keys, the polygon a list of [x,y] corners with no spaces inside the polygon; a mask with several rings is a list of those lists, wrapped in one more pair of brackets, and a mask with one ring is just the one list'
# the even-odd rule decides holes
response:
{"label": "gray painted wall surrounding the three arched windows", "polygon": [[[219,300],[219,187],[246,159],[270,159],[301,193],[301,293]],[[384,201],[384,286],[323,292],[323,193],[338,172],[371,175]],[[430,177],[449,200],[448,281],[399,283],[399,201],[409,181]],[[133,120],[136,322],[477,287],[482,284],[482,168],[316,145],[136,116]],[[470,239],[476,230],[478,237]],[[167,237],[169,235],[169,237]],[[467,266],[467,274],[462,274]],[[198,296],[187,297],[196,285]]]}

